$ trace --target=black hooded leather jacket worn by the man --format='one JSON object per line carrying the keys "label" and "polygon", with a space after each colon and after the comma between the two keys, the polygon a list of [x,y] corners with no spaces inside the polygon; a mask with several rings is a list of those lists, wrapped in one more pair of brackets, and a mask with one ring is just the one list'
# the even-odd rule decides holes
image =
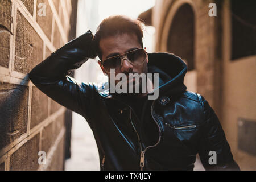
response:
{"label": "black hooded leather jacket worn by the man", "polygon": [[[239,170],[213,109],[200,94],[186,91],[187,66],[180,57],[148,53],[149,72],[160,72],[162,83],[159,98],[144,105],[142,119],[106,85],[67,76],[95,57],[92,38],[88,31],[67,43],[29,76],[47,96],[85,117],[96,139],[101,170],[193,170],[197,153],[205,169]],[[209,164],[209,151],[216,151],[217,164]]]}

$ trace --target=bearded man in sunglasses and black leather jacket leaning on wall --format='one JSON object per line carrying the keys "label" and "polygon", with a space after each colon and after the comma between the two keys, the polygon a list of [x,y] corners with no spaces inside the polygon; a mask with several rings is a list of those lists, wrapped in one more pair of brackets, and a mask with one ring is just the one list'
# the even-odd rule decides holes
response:
{"label": "bearded man in sunglasses and black leather jacket leaning on wall", "polygon": [[[32,69],[30,79],[47,96],[86,119],[96,139],[101,170],[193,170],[196,154],[207,170],[240,170],[212,107],[184,85],[187,65],[171,53],[147,53],[142,38],[138,19],[110,16],[95,35],[88,31],[53,52]],[[68,76],[96,56],[108,75],[106,84],[82,83]],[[120,74],[122,80],[110,79]],[[145,79],[136,82],[135,74],[152,77],[143,84]],[[121,81],[120,89],[137,87],[140,92],[110,92]],[[157,97],[150,99],[155,93]],[[209,154],[215,155],[213,162]]]}

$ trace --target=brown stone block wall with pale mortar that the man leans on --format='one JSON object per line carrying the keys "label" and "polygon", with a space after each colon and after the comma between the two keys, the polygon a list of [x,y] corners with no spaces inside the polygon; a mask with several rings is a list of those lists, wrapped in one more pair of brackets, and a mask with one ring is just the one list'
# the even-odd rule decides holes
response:
{"label": "brown stone block wall with pale mortar that the man leans on", "polygon": [[68,42],[71,12],[71,0],[0,0],[0,170],[64,169],[66,109],[27,73]]}

